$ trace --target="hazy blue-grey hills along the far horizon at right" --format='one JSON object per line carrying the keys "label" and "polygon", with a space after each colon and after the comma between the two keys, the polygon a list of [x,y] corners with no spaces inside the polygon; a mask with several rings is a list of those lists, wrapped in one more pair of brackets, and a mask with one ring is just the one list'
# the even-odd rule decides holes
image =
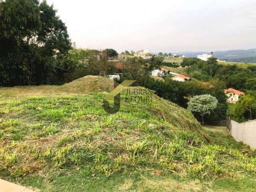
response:
{"label": "hazy blue-grey hills along the far horizon at right", "polygon": [[[210,52],[172,52],[186,57],[196,57],[205,53],[210,54]],[[226,61],[256,63],[256,49],[215,51],[214,56]]]}

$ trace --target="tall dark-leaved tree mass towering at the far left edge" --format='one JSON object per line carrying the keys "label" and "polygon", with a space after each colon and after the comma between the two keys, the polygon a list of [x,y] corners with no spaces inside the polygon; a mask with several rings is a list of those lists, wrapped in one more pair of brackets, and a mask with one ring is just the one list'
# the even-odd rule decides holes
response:
{"label": "tall dark-leaved tree mass towering at the far left edge", "polygon": [[0,1],[0,83],[50,83],[56,58],[71,48],[65,24],[46,1]]}

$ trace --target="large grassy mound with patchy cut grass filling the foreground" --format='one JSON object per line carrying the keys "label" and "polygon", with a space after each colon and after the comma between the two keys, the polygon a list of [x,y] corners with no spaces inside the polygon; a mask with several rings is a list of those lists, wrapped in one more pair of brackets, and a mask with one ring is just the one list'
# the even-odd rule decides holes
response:
{"label": "large grassy mound with patchy cut grass filling the foreground", "polygon": [[107,114],[102,100],[113,87],[86,76],[63,86],[0,88],[0,177],[56,192],[255,187],[248,146],[205,130],[156,95]]}

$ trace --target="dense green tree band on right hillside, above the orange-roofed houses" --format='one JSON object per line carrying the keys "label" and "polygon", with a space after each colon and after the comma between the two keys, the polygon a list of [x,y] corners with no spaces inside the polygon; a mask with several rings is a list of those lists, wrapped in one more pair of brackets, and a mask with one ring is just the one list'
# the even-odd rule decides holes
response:
{"label": "dense green tree band on right hillside, above the orange-roofed houses", "polygon": [[198,58],[185,58],[181,66],[190,76],[208,81],[218,79],[228,88],[256,91],[256,66],[241,68],[236,65],[218,64],[216,58],[203,61]]}

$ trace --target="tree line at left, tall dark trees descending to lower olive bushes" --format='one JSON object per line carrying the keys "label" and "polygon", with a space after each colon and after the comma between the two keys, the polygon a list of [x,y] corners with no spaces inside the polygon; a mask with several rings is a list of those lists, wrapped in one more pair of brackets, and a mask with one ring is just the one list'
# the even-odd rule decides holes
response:
{"label": "tree line at left, tall dark trees descending to lower olive bushes", "polygon": [[[46,0],[0,0],[0,86],[63,84],[114,72],[114,49],[77,50]],[[70,74],[64,75],[64,72]]]}

